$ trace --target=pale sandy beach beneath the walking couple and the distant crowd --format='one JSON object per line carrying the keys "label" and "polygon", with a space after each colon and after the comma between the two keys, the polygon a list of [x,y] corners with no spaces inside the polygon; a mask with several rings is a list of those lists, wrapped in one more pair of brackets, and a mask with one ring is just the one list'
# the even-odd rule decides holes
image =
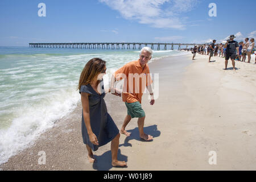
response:
{"label": "pale sandy beach beneath the walking couple and the distant crowd", "polygon": [[[139,139],[137,119],[121,135],[119,160],[127,168],[111,166],[110,143],[94,152],[88,163],[81,137],[81,104],[72,114],[42,134],[34,146],[9,159],[5,170],[255,170],[256,169],[256,64],[236,61],[236,71],[224,70],[224,59],[192,54],[166,57],[149,64],[159,73],[159,98],[151,106],[147,94],[142,106],[144,130],[152,142]],[[173,61],[180,61],[175,64]],[[232,67],[231,60],[228,68]],[[118,128],[126,107],[121,98],[105,97],[109,114]],[[46,164],[39,165],[39,151]],[[217,154],[210,165],[209,151]]]}

